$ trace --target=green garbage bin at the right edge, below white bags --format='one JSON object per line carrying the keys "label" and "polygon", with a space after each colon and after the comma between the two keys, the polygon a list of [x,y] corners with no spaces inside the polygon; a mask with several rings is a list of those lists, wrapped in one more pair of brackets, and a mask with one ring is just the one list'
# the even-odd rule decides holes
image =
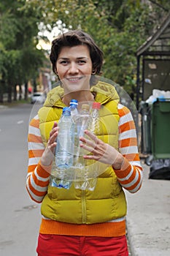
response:
{"label": "green garbage bin at the right edge, below white bags", "polygon": [[154,159],[170,158],[170,101],[152,104],[151,140]]}

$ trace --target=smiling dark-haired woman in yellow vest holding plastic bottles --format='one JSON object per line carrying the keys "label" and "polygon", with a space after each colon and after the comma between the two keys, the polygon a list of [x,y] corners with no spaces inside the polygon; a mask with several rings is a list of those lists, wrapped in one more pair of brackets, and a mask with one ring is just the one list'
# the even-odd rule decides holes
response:
{"label": "smiling dark-haired woman in yellow vest holding plastic bottles", "polygon": [[[26,187],[31,199],[42,203],[36,251],[39,256],[127,256],[123,189],[134,193],[142,185],[133,118],[120,105],[113,86],[93,79],[93,75],[101,73],[103,54],[88,34],[68,31],[54,39],[50,61],[61,86],[49,92],[44,107],[31,121],[28,134]],[[109,113],[104,112],[104,141],[88,130],[86,137],[80,138],[81,147],[92,153],[85,159],[107,164],[93,191],[75,189],[74,182],[70,189],[50,185],[58,120],[72,99],[100,102]]]}

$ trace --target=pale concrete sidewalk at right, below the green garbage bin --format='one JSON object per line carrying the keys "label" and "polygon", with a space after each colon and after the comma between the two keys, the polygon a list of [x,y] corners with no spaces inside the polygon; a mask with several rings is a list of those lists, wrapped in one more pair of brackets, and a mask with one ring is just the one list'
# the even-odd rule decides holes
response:
{"label": "pale concrete sidewalk at right, below the green garbage bin", "polygon": [[148,179],[150,168],[142,163],[144,181],[136,194],[125,192],[126,217],[132,256],[170,255],[170,181]]}

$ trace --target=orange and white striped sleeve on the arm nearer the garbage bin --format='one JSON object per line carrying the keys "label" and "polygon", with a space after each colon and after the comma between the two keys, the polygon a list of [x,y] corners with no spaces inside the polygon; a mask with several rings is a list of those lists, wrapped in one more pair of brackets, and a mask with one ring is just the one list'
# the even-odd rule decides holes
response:
{"label": "orange and white striped sleeve on the arm nearer the garbage bin", "polygon": [[131,111],[118,104],[119,120],[119,150],[125,157],[121,170],[115,170],[121,186],[131,193],[137,192],[142,185],[142,165],[136,138],[136,127]]}

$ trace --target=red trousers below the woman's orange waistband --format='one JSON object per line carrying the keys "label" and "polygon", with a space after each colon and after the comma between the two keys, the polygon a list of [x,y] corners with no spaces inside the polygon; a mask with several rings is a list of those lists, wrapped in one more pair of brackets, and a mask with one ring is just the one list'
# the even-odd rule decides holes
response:
{"label": "red trousers below the woman's orange waistband", "polygon": [[38,256],[128,256],[125,236],[59,236],[39,234]]}

